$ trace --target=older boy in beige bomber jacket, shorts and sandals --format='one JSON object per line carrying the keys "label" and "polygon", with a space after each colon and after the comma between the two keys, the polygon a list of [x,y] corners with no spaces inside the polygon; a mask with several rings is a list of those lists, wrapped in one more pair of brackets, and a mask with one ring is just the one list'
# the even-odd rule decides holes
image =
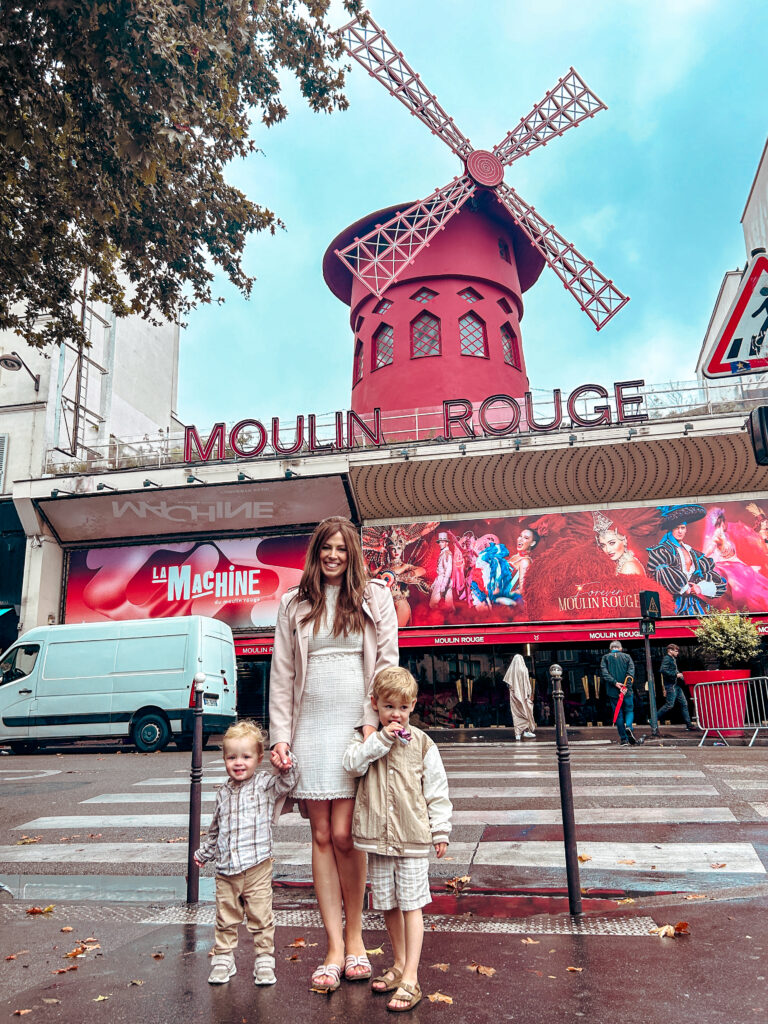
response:
{"label": "older boy in beige bomber jacket, shorts and sandals", "polygon": [[368,853],[374,907],[384,912],[394,963],[374,978],[375,992],[392,992],[387,1010],[403,1013],[421,1000],[422,907],[431,902],[429,850],[442,857],[453,808],[440,754],[410,726],[419,688],[408,669],[385,669],[371,705],[380,728],[355,732],[344,768],[359,778],[352,818],[355,849]]}

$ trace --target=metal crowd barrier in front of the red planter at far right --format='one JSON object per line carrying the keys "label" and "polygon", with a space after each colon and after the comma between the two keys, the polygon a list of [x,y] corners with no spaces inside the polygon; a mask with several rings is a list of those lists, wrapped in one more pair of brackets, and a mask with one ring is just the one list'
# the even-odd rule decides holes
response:
{"label": "metal crowd barrier in front of the red planter at far right", "polygon": [[703,730],[699,746],[711,732],[726,746],[726,737],[740,738],[752,732],[752,746],[760,730],[768,729],[768,676],[697,683],[693,702],[698,727]]}

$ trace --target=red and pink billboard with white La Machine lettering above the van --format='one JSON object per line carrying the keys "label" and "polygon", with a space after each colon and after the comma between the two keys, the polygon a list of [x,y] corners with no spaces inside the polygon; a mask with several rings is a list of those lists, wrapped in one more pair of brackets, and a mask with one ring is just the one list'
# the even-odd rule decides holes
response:
{"label": "red and pink billboard with white La Machine lettering above the van", "polygon": [[65,621],[210,615],[231,629],[274,626],[308,544],[292,535],[74,551]]}

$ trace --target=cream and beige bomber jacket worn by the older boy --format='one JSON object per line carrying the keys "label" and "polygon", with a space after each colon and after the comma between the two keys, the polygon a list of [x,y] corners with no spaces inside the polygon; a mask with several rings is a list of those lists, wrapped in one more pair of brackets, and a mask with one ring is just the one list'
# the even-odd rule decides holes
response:
{"label": "cream and beige bomber jacket worn by the older boy", "polygon": [[343,765],[360,777],[352,817],[357,850],[390,857],[427,857],[447,843],[453,807],[439,751],[411,726],[407,745],[380,730],[347,746]]}

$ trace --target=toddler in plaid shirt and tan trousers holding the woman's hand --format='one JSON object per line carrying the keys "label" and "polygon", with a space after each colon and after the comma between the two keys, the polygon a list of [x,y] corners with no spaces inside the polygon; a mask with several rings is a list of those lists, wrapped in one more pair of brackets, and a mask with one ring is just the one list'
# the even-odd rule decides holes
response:
{"label": "toddler in plaid shirt and tan trousers holding the woman's hand", "polygon": [[212,985],[238,973],[234,950],[245,910],[253,936],[256,985],[273,985],[274,915],[272,913],[272,815],[274,802],[296,783],[296,759],[278,772],[257,772],[264,756],[264,735],[255,722],[237,722],[224,733],[224,767],[229,776],[216,794],[208,838],[195,853],[202,867],[216,861],[216,927]]}

